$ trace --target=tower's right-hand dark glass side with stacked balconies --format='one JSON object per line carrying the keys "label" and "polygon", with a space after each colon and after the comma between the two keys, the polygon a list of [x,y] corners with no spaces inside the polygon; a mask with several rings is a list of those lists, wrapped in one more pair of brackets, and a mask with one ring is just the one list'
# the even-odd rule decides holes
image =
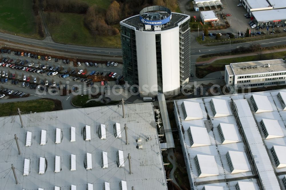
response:
{"label": "tower's right-hand dark glass side with stacked balconies", "polygon": [[190,20],[180,25],[180,85],[184,86],[190,76]]}

